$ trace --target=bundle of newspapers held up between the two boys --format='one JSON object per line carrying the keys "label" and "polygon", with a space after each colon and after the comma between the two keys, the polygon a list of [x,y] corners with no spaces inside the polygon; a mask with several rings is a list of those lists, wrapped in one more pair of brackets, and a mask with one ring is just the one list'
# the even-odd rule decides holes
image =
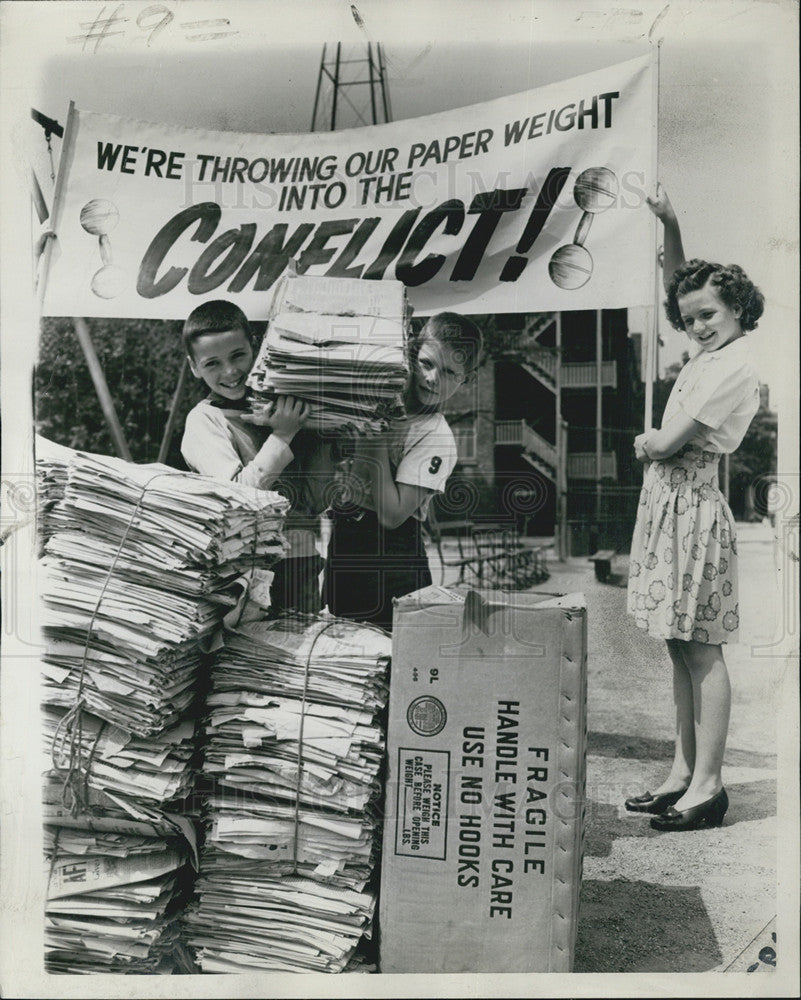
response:
{"label": "bundle of newspapers held up between the two boys", "polygon": [[309,426],[380,430],[404,413],[410,316],[399,281],[287,275],[249,385],[305,399]]}

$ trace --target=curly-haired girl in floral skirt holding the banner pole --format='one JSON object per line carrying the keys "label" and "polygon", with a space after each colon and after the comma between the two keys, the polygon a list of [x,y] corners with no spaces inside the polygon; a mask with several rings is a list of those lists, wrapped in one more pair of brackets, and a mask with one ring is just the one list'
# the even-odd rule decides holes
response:
{"label": "curly-haired girl in floral skirt holding the banner pole", "polygon": [[681,370],[662,427],[634,440],[648,463],[631,543],[628,611],[665,639],[673,663],[673,766],[654,792],[626,801],[656,814],[656,830],[719,826],[728,808],[721,768],[731,707],[722,644],[739,627],[734,519],[718,489],[722,454],[739,447],[759,407],[746,332],[762,315],[759,289],[736,265],[681,263],[667,196],[649,200],[665,224],[666,311],[698,353]]}

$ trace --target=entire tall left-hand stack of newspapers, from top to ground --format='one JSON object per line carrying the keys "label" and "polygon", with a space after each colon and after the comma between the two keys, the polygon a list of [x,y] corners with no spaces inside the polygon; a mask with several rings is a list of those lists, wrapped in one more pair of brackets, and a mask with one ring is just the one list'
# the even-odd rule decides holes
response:
{"label": "entire tall left-hand stack of newspapers, from top to ground", "polygon": [[193,703],[244,579],[285,551],[278,493],[41,441],[51,972],[196,971]]}

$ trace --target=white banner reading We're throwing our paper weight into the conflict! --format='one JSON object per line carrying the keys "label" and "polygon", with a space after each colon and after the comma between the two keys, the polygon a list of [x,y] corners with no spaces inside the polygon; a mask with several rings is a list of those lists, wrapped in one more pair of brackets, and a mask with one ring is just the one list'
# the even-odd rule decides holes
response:
{"label": "white banner reading We're throwing our paper weight into the conflict!", "polygon": [[397,278],[418,313],[648,303],[653,63],[456,111],[302,135],[70,109],[43,312],[263,318],[300,273]]}

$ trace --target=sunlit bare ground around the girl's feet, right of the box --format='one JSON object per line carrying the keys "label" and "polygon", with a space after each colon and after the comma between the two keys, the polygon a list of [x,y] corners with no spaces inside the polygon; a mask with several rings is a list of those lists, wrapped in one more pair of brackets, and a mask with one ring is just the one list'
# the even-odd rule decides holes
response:
{"label": "sunlit bare ground around the girl's feet, right of the box", "polygon": [[[659,833],[624,799],[659,784],[673,756],[665,643],[625,612],[628,557],[609,582],[586,558],[548,564],[532,588],[581,591],[588,608],[588,756],[576,972],[760,972],[776,967],[776,719],[783,661],[770,525],[738,526],[740,642],[724,650],[732,714],[723,826]],[[439,567],[431,553],[435,582]],[[453,582],[448,571],[444,582]]]}

